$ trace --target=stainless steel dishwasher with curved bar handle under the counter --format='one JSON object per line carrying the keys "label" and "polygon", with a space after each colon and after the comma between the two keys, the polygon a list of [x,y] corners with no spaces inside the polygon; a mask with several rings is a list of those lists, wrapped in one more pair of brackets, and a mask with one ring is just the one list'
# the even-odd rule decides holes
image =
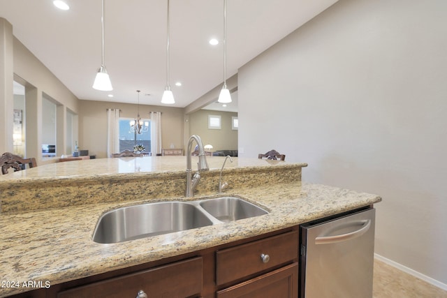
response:
{"label": "stainless steel dishwasher with curved bar handle under the counter", "polygon": [[301,225],[301,298],[372,298],[375,211]]}

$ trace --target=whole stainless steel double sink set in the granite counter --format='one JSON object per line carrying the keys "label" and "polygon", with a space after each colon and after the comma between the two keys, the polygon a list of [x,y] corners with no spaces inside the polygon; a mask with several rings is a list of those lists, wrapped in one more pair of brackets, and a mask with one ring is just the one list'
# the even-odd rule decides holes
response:
{"label": "whole stainless steel double sink set in the granite counter", "polygon": [[139,204],[103,214],[96,224],[93,241],[112,244],[263,214],[268,211],[235,197]]}

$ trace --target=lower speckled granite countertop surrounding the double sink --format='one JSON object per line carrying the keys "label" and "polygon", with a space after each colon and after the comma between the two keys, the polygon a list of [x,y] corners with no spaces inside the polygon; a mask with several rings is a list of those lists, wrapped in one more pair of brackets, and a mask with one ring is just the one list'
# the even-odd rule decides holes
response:
{"label": "lower speckled granite countertop surrounding the double sink", "polygon": [[[223,159],[219,163],[221,161]],[[82,161],[67,163],[77,162]],[[241,167],[242,163],[237,164]],[[252,167],[253,163],[247,166]],[[96,202],[0,214],[0,282],[17,281],[22,285],[23,282],[41,281],[44,285],[46,282],[55,285],[281,230],[381,201],[377,195],[301,181],[232,188],[223,195],[253,202],[269,214],[117,244],[97,244],[91,239],[98,218],[105,211],[152,200],[201,200],[203,196]],[[0,288],[0,297],[27,290],[33,289]]]}

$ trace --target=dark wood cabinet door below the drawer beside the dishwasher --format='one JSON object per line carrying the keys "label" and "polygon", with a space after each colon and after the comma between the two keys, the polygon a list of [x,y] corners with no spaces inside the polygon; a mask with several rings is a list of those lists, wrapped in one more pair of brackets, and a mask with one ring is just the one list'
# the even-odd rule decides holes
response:
{"label": "dark wood cabinet door below the drawer beside the dishwasher", "polygon": [[298,297],[298,263],[282,267],[217,292],[217,298]]}

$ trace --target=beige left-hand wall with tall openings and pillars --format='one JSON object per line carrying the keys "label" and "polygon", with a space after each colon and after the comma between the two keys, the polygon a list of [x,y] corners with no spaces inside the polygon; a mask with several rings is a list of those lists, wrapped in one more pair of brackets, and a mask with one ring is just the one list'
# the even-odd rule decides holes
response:
{"label": "beige left-hand wall with tall openings and pillars", "polygon": [[[25,114],[26,114],[26,152],[25,156],[36,157],[38,165],[47,162],[41,158],[41,144],[42,134],[45,133],[42,128],[42,96],[46,94],[50,98],[57,101],[57,154],[65,153],[66,137],[64,128],[66,127],[66,110],[69,109],[75,113],[78,112],[78,98],[69,91],[64,84],[62,84],[57,77],[55,77],[50,70],[48,70],[39,61],[34,54],[32,54],[27,47],[25,47],[20,40],[13,36],[13,30],[10,24],[1,19],[0,31],[3,38],[1,38],[1,47],[8,51],[2,55],[3,66],[13,66],[13,73],[9,68],[0,68],[0,112],[4,115],[1,119],[2,140],[0,149],[3,151],[12,151],[13,149],[13,129],[12,129],[12,115],[13,115],[13,80],[17,80],[25,86]],[[5,75],[4,72],[8,75]],[[60,125],[59,125],[60,123]],[[77,133],[77,131],[76,131]]]}

